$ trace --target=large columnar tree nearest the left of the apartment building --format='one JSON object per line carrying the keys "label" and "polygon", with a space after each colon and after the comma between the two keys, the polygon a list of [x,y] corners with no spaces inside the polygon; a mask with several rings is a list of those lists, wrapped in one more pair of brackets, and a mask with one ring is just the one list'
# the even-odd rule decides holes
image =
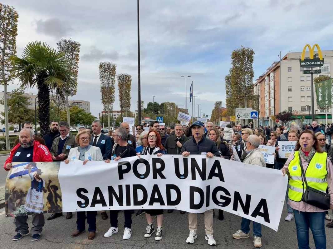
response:
{"label": "large columnar tree nearest the left of the apartment building", "polygon": [[253,95],[253,56],[252,48],[241,46],[231,53],[231,68],[225,76],[226,107],[229,115],[235,108],[247,108]]}

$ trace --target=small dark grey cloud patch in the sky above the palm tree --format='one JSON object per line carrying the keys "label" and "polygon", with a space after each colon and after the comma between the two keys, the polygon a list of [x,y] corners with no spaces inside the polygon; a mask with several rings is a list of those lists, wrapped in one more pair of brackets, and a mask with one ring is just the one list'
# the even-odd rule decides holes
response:
{"label": "small dark grey cloud patch in the sky above the palm tree", "polygon": [[68,23],[61,21],[58,18],[50,18],[45,21],[42,19],[36,21],[36,31],[40,34],[62,38],[72,32],[73,29]]}

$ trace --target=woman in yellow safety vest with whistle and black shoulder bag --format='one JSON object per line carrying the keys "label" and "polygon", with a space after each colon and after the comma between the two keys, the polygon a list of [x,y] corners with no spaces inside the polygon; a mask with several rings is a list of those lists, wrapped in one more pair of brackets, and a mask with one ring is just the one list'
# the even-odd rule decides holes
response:
{"label": "woman in yellow safety vest with whistle and black shoulder bag", "polygon": [[[301,163],[300,163],[301,160]],[[297,140],[295,151],[281,169],[290,177],[288,185],[289,205],[292,207],[296,223],[299,248],[309,247],[309,228],[313,234],[315,248],[326,248],[325,213],[302,201],[306,189],[302,177],[301,164],[309,187],[325,192],[328,189],[333,208],[333,165],[327,153],[323,152],[312,130],[303,130]]]}

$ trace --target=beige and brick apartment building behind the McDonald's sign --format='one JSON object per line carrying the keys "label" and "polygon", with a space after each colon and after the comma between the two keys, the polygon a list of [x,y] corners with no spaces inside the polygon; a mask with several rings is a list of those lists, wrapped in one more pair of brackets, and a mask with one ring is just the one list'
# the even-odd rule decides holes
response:
{"label": "beige and brick apartment building behind the McDonald's sign", "polygon": [[[275,125],[271,116],[284,110],[296,111],[298,124],[301,124],[303,116],[304,123],[312,122],[311,115],[309,115],[311,110],[311,74],[303,74],[303,70],[310,68],[300,67],[301,54],[302,52],[287,53],[282,57],[281,62],[274,62],[254,83],[254,93],[259,95],[259,124]],[[321,69],[322,72],[314,74],[313,78],[319,75],[333,76],[330,71],[333,63],[333,50],[322,50],[322,54],[324,65],[320,68],[313,68]],[[309,57],[309,52],[305,53],[305,57]],[[279,75],[281,75],[281,81]],[[313,98],[316,120],[325,123],[325,110],[319,110],[317,107],[315,93]],[[332,121],[331,111],[332,109],[328,111],[329,123],[332,123],[330,122]]]}

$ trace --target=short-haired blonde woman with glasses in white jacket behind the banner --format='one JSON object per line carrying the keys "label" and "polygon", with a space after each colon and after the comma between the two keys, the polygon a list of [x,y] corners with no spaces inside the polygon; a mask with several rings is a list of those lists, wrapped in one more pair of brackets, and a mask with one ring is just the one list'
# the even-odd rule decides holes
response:
{"label": "short-haired blonde woman with glasses in white jacket behind the banner", "polygon": [[[66,159],[64,162],[68,164],[72,160],[81,160],[83,161],[83,165],[85,165],[89,161],[103,161],[101,149],[99,147],[90,145],[90,139],[91,136],[88,131],[80,131],[75,137],[75,142],[79,144],[79,146],[70,149],[68,159]],[[97,211],[87,211],[89,240],[94,239],[96,236],[96,215]],[[86,212],[77,212],[77,216],[77,229],[71,234],[71,237],[78,236],[86,229]]]}

